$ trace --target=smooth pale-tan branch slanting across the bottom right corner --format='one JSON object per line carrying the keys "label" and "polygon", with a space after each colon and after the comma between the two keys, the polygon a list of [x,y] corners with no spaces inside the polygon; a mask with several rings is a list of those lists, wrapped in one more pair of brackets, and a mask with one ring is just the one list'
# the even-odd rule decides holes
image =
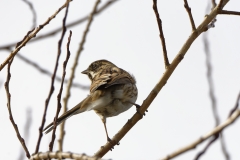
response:
{"label": "smooth pale-tan branch slanting across the bottom right corner", "polygon": [[196,148],[197,145],[201,144],[202,142],[204,142],[205,140],[207,140],[208,138],[217,135],[218,133],[222,132],[226,127],[230,126],[233,122],[235,122],[235,120],[240,116],[240,110],[237,109],[235,110],[235,112],[231,115],[231,117],[229,117],[224,123],[220,124],[219,126],[215,127],[212,131],[210,131],[209,133],[205,134],[204,136],[202,136],[201,138],[195,140],[194,142],[192,142],[191,144],[173,152],[172,154],[169,154],[168,156],[162,158],[162,160],[168,160],[171,158],[174,158],[182,153],[185,153],[186,151],[189,151],[191,149]]}

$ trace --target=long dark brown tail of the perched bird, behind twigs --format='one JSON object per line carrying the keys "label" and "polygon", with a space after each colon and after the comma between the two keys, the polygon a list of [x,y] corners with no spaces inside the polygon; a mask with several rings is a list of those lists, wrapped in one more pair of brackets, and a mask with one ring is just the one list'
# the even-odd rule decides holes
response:
{"label": "long dark brown tail of the perched bird, behind twigs", "polygon": [[[77,106],[73,107],[72,109],[70,109],[69,111],[63,113],[58,119],[57,119],[57,126],[59,124],[61,124],[63,121],[67,120],[68,118],[70,118],[71,116],[81,113],[84,110],[81,110],[79,107],[80,104],[78,104]],[[44,129],[43,132],[45,132],[45,134],[48,134],[49,132],[51,132],[53,130],[53,122],[50,123],[49,125],[47,125]]]}

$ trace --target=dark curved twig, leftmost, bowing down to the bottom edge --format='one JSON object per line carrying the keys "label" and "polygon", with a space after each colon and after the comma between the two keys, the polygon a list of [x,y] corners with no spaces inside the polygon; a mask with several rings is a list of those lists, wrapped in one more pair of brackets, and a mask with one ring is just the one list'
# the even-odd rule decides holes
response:
{"label": "dark curved twig, leftmost, bowing down to the bottom edge", "polygon": [[9,119],[13,125],[13,128],[17,134],[17,137],[23,147],[23,149],[25,150],[25,153],[26,153],[26,156],[28,158],[30,158],[30,154],[29,154],[29,151],[28,151],[28,148],[25,144],[25,140],[22,138],[21,134],[19,133],[19,130],[18,130],[18,126],[17,124],[15,123],[14,119],[13,119],[13,116],[12,116],[12,109],[11,109],[11,94],[10,94],[10,91],[9,91],[9,82],[10,82],[10,79],[11,79],[11,73],[10,73],[10,68],[11,68],[11,64],[13,62],[13,59],[10,60],[10,62],[8,63],[8,68],[7,68],[7,79],[6,79],[6,82],[5,82],[5,90],[6,90],[6,95],[7,95],[7,107],[8,107],[8,113],[9,113]]}

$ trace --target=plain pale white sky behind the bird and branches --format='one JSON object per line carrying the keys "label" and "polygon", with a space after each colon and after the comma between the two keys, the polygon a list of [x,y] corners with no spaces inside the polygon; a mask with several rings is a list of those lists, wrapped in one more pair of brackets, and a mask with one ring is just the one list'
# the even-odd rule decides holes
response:
{"label": "plain pale white sky behind the bird and branches", "polygon": [[[34,1],[37,25],[45,22],[64,2],[65,0]],[[104,2],[106,1],[103,0],[100,5]],[[198,26],[207,13],[206,7],[210,0],[189,0],[188,2],[192,8],[196,26]],[[94,3],[95,0],[74,0],[71,2],[67,22],[72,22],[90,13]],[[190,21],[183,4],[181,0],[158,1],[170,62],[191,33]],[[239,6],[240,1],[231,0],[225,9],[239,11]],[[64,12],[62,11],[38,35],[61,26]],[[29,7],[22,1],[2,0],[0,2],[0,20],[1,46],[21,40],[32,26],[32,14]],[[86,22],[70,28],[73,35],[67,78],[85,26]],[[66,55],[65,46],[68,33],[67,31],[63,42],[57,73],[59,76],[62,75],[62,62]],[[240,17],[218,16],[216,27],[210,29],[207,34],[212,54],[217,109],[221,122],[223,122],[234,106],[240,91]],[[80,74],[80,72],[95,60],[107,59],[136,77],[139,89],[137,103],[141,105],[164,73],[161,42],[158,35],[152,1],[122,0],[116,2],[94,18],[80,56],[74,82],[90,85],[87,76]],[[57,34],[54,37],[31,43],[22,48],[20,53],[52,72],[59,38],[60,34]],[[104,158],[114,160],[163,158],[196,140],[214,127],[215,121],[208,95],[206,57],[202,40],[203,36],[201,35],[193,43],[168,83],[151,104],[146,116],[120,141],[120,146],[116,146]],[[3,50],[0,52],[0,62],[2,63],[9,52]],[[25,140],[30,153],[33,153],[45,99],[49,92],[50,77],[42,75],[18,58],[14,59],[11,73],[12,112],[22,135],[24,134],[27,109],[31,109],[31,128],[29,136],[25,137]],[[10,160],[18,159],[23,149],[9,121],[3,85],[5,79],[6,67],[0,73],[0,152],[1,159]],[[55,92],[49,104],[46,124],[50,123],[55,115],[59,84],[59,82],[55,82]],[[72,89],[69,106],[73,107],[87,94],[87,90]],[[64,96],[65,90],[63,90]],[[119,131],[135,111],[135,107],[132,107],[118,117],[107,120],[110,137]],[[106,142],[103,124],[93,111],[72,117],[67,121],[66,129],[64,151],[93,155]],[[239,135],[239,120],[224,131],[226,147],[233,160],[240,159]],[[43,136],[40,151],[48,150],[50,139],[51,134]],[[175,159],[193,159],[205,147],[205,144],[206,142],[195,150]],[[55,142],[56,149],[57,142]],[[225,159],[219,140],[211,146],[202,159]]]}

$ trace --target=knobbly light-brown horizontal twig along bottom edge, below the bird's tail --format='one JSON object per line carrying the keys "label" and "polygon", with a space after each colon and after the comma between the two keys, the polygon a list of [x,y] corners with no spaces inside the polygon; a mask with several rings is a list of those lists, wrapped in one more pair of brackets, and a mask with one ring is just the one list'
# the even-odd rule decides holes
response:
{"label": "knobbly light-brown horizontal twig along bottom edge, below the bird's tail", "polygon": [[43,159],[74,159],[74,160],[101,160],[100,158],[90,157],[86,154],[77,154],[71,152],[45,152],[37,153],[31,156],[29,160],[43,160]]}

